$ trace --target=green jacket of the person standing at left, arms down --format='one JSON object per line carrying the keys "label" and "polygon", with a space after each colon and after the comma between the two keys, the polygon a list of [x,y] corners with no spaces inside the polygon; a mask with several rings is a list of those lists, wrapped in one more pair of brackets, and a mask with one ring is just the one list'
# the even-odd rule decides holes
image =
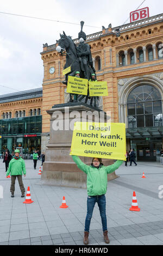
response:
{"label": "green jacket of the person standing at left, arms down", "polygon": [[15,159],[13,158],[9,163],[9,168],[7,170],[7,176],[11,173],[11,175],[25,175],[26,174],[26,166],[22,157]]}

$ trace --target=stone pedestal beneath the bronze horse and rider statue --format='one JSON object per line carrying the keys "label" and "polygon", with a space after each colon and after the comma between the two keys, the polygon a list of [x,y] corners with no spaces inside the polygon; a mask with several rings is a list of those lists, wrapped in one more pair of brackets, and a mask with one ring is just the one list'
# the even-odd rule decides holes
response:
{"label": "stone pedestal beneath the bronze horse and rider statue", "polygon": [[[77,167],[70,156],[73,124],[75,121],[99,120],[104,123],[109,117],[100,109],[83,102],[54,105],[47,113],[51,115],[51,131],[41,173],[41,184],[86,188],[86,174]],[[56,126],[59,126],[59,130],[56,130]],[[92,161],[90,157],[81,156],[80,159],[88,165]],[[103,159],[105,166],[113,162]],[[108,174],[108,180],[116,178],[118,176],[115,172]]]}

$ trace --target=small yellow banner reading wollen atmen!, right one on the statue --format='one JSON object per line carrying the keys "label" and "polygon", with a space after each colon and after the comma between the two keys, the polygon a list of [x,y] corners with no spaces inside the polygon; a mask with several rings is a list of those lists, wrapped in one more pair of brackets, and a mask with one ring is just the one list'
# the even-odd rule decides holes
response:
{"label": "small yellow banner reading wollen atmen!, right one on the statue", "polygon": [[108,96],[107,82],[89,82],[90,96]]}

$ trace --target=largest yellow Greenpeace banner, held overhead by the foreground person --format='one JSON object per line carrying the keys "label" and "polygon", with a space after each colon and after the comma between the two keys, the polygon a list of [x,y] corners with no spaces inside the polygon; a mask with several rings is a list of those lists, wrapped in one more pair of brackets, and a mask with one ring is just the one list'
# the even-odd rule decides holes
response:
{"label": "largest yellow Greenpeace banner, held overhead by the foreground person", "polygon": [[71,154],[126,161],[126,125],[74,123]]}

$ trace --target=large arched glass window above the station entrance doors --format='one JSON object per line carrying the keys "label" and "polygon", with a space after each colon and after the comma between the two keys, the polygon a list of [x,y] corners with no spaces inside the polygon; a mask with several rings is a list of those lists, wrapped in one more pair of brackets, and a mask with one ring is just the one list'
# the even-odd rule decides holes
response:
{"label": "large arched glass window above the station entrance doors", "polygon": [[153,86],[134,88],[127,99],[128,127],[162,125],[161,95]]}

